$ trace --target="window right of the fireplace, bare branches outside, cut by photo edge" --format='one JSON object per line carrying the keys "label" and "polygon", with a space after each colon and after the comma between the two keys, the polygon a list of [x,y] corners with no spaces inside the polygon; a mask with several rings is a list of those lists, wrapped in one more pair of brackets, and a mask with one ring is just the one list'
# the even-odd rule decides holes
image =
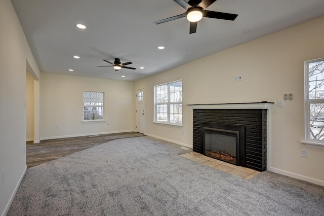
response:
{"label": "window right of the fireplace, bare branches outside, cut by photo edge", "polygon": [[324,58],[305,62],[305,141],[324,145]]}

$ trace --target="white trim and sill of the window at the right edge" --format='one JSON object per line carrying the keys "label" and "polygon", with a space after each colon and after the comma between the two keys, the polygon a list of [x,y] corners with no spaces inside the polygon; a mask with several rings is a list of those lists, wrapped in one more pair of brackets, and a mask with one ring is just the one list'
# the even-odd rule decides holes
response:
{"label": "white trim and sill of the window at the right edge", "polygon": [[308,74],[308,64],[316,61],[324,61],[324,58],[313,59],[305,61],[305,139],[301,140],[300,143],[304,143],[306,147],[315,148],[315,149],[324,149],[324,141],[311,139],[310,138],[310,103],[311,102],[324,102],[324,99],[308,99],[308,83],[309,83],[309,74]]}

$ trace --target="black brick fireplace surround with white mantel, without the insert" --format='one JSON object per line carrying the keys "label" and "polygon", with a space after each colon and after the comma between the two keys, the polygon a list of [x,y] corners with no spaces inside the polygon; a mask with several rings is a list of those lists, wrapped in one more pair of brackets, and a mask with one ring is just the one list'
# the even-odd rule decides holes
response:
{"label": "black brick fireplace surround with white mantel, without the insert", "polygon": [[273,102],[189,104],[193,109],[193,151],[204,154],[201,124],[245,126],[245,167],[267,169],[267,117]]}

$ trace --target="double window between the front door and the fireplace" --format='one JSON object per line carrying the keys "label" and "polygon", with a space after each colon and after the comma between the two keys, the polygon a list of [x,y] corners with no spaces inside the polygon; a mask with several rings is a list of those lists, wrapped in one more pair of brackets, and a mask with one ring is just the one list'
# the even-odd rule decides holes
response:
{"label": "double window between the front door and the fireplace", "polygon": [[182,81],[154,86],[154,122],[182,125]]}

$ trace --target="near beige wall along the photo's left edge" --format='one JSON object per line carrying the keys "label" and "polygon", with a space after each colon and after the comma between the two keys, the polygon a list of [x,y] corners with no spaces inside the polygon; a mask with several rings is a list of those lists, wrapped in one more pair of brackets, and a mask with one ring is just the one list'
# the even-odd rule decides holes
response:
{"label": "near beige wall along the photo's left edge", "polygon": [[0,215],[6,214],[26,170],[26,69],[39,69],[10,0],[0,1]]}

